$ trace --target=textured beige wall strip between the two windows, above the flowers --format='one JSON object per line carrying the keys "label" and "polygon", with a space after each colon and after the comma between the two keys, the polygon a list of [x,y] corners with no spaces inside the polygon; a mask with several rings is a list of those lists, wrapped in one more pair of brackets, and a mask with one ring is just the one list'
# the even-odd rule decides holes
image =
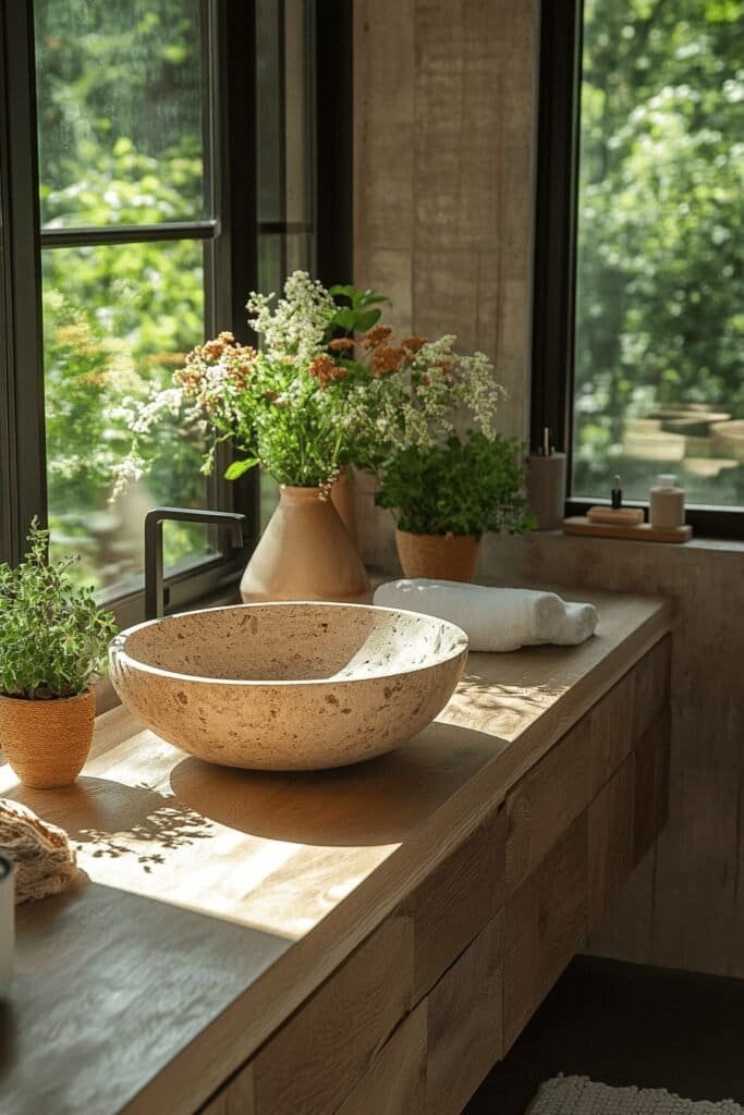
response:
{"label": "textured beige wall strip between the two windows, above the flowers", "polygon": [[355,281],[454,332],[529,415],[537,6],[355,2]]}

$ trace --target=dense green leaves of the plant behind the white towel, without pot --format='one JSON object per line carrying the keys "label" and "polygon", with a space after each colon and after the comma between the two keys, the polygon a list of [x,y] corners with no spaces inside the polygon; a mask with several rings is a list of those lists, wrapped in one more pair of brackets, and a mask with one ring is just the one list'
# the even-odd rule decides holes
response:
{"label": "dense green leaves of the plant behind the white towel, without pot", "polygon": [[376,502],[396,511],[399,530],[410,534],[521,534],[533,525],[523,484],[519,440],[471,430],[443,445],[402,449],[385,468]]}

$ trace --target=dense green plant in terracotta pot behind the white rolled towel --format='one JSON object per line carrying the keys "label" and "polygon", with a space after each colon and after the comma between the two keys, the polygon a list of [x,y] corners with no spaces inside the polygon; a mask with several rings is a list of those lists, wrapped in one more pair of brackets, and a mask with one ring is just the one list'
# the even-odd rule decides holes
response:
{"label": "dense green plant in terracotta pot behind the white rolled towel", "polygon": [[376,500],[396,513],[406,576],[471,581],[486,531],[522,533],[531,523],[522,495],[516,438],[451,433],[444,444],[408,446],[383,472]]}

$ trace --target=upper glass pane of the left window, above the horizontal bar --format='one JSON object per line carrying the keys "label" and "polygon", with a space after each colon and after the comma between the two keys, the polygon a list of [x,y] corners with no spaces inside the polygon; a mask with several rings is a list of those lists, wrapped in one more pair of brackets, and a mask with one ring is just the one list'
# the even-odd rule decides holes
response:
{"label": "upper glass pane of the left window, above the horizontal bar", "polygon": [[45,226],[207,214],[200,0],[35,0]]}

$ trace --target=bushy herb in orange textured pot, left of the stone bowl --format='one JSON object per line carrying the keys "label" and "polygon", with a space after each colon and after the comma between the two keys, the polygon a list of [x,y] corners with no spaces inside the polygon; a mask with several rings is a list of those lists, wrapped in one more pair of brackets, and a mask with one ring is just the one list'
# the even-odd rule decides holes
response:
{"label": "bushy herb in orange textured pot, left of the stone bowl", "polygon": [[106,661],[114,617],[69,569],[48,559],[49,534],[33,520],[29,551],[0,564],[0,747],[27,786],[70,785],[90,750],[91,681]]}

